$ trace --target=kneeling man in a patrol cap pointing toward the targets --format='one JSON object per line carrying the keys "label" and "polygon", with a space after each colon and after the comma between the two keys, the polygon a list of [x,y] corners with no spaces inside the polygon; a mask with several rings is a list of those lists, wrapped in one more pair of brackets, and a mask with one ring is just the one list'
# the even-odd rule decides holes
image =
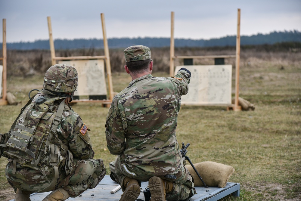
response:
{"label": "kneeling man in a patrol cap pointing toward the targets", "polygon": [[122,187],[120,200],[136,200],[141,181],[148,181],[152,201],[188,199],[196,191],[175,130],[191,73],[152,76],[151,50],[143,45],[126,48],[124,56],[132,82],[113,98],[106,120],[107,147],[117,155],[110,177]]}

